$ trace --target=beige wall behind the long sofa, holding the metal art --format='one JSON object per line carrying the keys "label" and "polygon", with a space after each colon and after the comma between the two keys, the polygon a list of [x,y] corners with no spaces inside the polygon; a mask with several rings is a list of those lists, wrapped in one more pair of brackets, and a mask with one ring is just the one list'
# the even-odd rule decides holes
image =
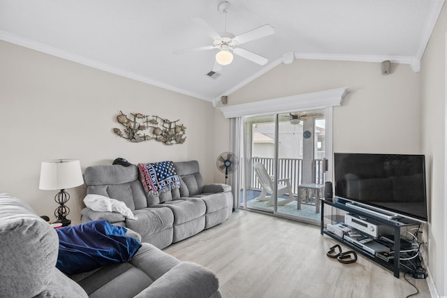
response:
{"label": "beige wall behind the long sofa, holding the metal art", "polygon": [[[205,182],[214,181],[212,103],[5,42],[0,66],[0,193],[22,198],[38,214],[51,215],[57,207],[57,191],[38,189],[41,161],[54,158],[78,158],[82,171],[116,157],[132,163],[196,159]],[[180,119],[186,142],[166,146],[117,137],[112,128],[120,127],[120,110]],[[68,218],[79,221],[85,187],[68,192]]]}

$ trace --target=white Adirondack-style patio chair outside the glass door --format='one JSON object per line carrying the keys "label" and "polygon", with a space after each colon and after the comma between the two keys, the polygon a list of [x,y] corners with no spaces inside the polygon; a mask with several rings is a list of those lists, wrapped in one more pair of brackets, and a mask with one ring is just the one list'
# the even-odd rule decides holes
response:
{"label": "white Adirondack-style patio chair outside the glass door", "polygon": [[[261,195],[259,195],[258,198],[256,198],[256,201],[267,201],[265,202],[266,205],[272,206],[274,204],[274,197],[273,197],[273,188],[274,188],[274,182],[272,177],[268,174],[267,170],[265,170],[265,167],[262,163],[254,163],[254,172],[256,173],[256,177],[258,177],[259,184],[261,184]],[[281,195],[288,194],[288,198],[281,199]],[[278,206],[282,206],[284,204],[287,204],[289,202],[293,202],[295,200],[295,197],[293,196],[293,191],[291,188],[291,181],[290,179],[278,179],[278,189],[277,189],[277,198]]]}

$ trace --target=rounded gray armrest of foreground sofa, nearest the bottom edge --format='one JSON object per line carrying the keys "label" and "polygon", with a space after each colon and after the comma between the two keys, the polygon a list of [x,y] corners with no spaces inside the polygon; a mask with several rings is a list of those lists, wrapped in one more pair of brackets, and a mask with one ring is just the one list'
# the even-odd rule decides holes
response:
{"label": "rounded gray armrest of foreground sofa, nearest the bottom edge", "polygon": [[135,297],[210,298],[218,290],[219,280],[210,269],[193,262],[182,262]]}

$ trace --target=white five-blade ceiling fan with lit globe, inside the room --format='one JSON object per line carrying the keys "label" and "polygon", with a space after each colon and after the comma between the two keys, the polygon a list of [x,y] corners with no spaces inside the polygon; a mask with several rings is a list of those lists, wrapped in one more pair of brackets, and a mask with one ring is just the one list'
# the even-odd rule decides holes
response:
{"label": "white five-blade ceiling fan with lit globe, inside the room", "polygon": [[270,26],[269,24],[265,24],[261,27],[252,29],[250,31],[247,31],[246,33],[242,33],[238,36],[235,36],[234,34],[226,31],[226,14],[228,13],[229,8],[230,3],[228,1],[222,1],[221,3],[219,3],[219,6],[217,6],[217,10],[219,10],[221,13],[225,15],[225,31],[223,33],[217,33],[216,31],[214,31],[214,29],[212,29],[212,27],[210,27],[210,25],[207,24],[207,22],[205,22],[200,17],[192,18],[193,23],[202,27],[204,31],[209,36],[211,36],[211,38],[214,40],[213,45],[205,45],[203,47],[193,47],[190,49],[176,50],[173,52],[173,54],[184,54],[186,52],[217,49],[219,50],[219,52],[217,52],[216,54],[216,61],[214,63],[213,71],[219,71],[221,66],[230,64],[233,61],[232,52],[237,56],[248,59],[249,61],[252,61],[256,64],[259,65],[267,64],[268,62],[267,58],[255,54],[254,52],[250,52],[249,50],[245,50],[244,48],[239,47],[239,45],[242,45],[243,43],[248,43],[251,40],[256,40],[258,38],[263,38],[265,36],[272,35],[274,33],[273,27]]}

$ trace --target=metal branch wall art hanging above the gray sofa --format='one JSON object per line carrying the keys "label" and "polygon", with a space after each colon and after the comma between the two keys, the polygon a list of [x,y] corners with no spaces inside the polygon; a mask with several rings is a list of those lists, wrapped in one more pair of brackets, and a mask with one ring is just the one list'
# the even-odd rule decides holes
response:
{"label": "metal branch wall art hanging above the gray sofa", "polygon": [[113,132],[131,142],[156,140],[166,145],[182,144],[186,140],[186,127],[177,124],[179,120],[170,121],[158,116],[136,114],[121,114],[117,120],[124,128],[113,128]]}

